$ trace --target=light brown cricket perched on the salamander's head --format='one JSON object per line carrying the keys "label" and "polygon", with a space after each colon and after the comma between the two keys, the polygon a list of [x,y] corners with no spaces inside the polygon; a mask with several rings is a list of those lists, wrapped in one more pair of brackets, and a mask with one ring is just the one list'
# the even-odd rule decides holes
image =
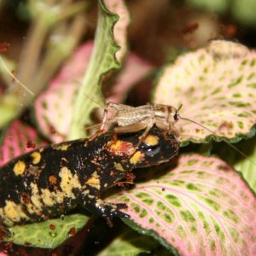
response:
{"label": "light brown cricket perched on the salamander's head", "polygon": [[[111,119],[108,119],[109,112],[113,113]],[[178,131],[175,127],[178,119],[178,109],[168,105],[148,103],[139,107],[131,107],[125,104],[108,102],[104,108],[102,125],[99,131],[96,132],[96,136],[106,130],[105,128],[108,122],[117,124],[113,128],[113,136],[115,134],[144,130],[137,144],[138,147],[145,137],[147,137],[148,131],[150,131],[153,125],[156,125],[165,133],[172,133],[178,137]]]}

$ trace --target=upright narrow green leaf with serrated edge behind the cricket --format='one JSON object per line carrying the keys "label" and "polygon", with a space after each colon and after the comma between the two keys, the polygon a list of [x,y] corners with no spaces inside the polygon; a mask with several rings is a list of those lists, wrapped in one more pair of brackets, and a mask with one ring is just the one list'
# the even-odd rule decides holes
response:
{"label": "upright narrow green leaf with serrated edge behind the cricket", "polygon": [[[95,47],[90,57],[89,67],[84,76],[79,94],[73,108],[73,121],[68,139],[84,137],[84,124],[90,124],[90,113],[98,108],[95,102],[104,104],[100,84],[102,76],[120,67],[116,59],[116,53],[120,46],[113,35],[113,27],[119,20],[119,16],[111,13],[104,1],[99,1],[100,9],[96,28]],[[84,102],[84,96],[93,96],[95,102]]]}

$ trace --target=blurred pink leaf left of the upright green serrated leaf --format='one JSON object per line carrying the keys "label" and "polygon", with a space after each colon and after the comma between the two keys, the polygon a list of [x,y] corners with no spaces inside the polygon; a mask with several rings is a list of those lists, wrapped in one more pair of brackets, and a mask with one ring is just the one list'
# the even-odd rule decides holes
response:
{"label": "blurred pink leaf left of the upright green serrated leaf", "polygon": [[[34,117],[38,129],[54,143],[67,138],[70,128],[73,101],[79,90],[84,70],[88,66],[93,42],[81,46],[73,54],[61,72],[51,81],[48,90],[35,102]],[[84,96],[84,102],[88,101]]]}

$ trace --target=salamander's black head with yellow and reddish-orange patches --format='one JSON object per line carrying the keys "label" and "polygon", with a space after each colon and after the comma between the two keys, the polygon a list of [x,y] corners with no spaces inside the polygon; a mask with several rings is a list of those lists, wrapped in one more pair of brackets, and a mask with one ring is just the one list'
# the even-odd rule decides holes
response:
{"label": "salamander's black head with yellow and reddish-orange patches", "polygon": [[142,134],[143,131],[138,131],[119,135],[118,140],[109,142],[108,154],[117,161],[128,160],[132,169],[157,166],[177,155],[179,142],[172,133],[154,126],[137,147]]}

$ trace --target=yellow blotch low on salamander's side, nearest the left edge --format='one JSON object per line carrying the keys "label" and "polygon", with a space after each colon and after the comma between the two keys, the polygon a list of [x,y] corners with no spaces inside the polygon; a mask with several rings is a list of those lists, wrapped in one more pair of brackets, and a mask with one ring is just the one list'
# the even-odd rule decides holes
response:
{"label": "yellow blotch low on salamander's side, nearest the left edge", "polygon": [[25,212],[22,211],[20,205],[15,204],[13,201],[5,201],[6,205],[3,207],[5,218],[9,218],[12,222],[20,222],[21,219],[28,219]]}

